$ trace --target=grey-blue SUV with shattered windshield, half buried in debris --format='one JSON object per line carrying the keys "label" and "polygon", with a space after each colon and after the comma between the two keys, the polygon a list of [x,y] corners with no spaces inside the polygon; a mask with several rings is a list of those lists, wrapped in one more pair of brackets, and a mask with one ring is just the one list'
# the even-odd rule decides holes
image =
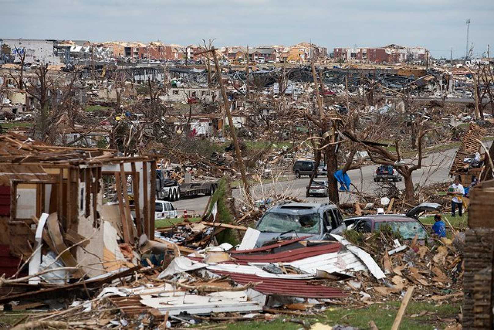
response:
{"label": "grey-blue SUV with shattered windshield, half buried in debris", "polygon": [[334,204],[288,203],[268,209],[257,222],[256,229],[261,232],[256,246],[261,247],[297,236],[324,239],[329,233],[341,234],[345,225]]}

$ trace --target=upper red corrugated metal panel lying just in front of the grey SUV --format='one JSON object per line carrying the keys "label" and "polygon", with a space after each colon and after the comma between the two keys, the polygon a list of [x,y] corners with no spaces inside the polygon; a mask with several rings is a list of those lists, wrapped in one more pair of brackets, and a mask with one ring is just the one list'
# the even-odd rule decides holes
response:
{"label": "upper red corrugated metal panel lying just in front of the grey SUV", "polygon": [[238,261],[245,262],[291,262],[295,260],[305,259],[316,255],[338,252],[341,248],[340,243],[316,245],[309,247],[301,247],[279,253],[267,254],[235,254],[233,257]]}

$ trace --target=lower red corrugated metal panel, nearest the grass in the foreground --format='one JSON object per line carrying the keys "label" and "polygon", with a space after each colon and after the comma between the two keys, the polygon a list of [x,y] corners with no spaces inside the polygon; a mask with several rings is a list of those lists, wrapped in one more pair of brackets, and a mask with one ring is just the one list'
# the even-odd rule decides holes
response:
{"label": "lower red corrugated metal panel, nearest the grass in the foreground", "polygon": [[233,281],[240,284],[262,282],[256,285],[253,289],[264,294],[324,299],[342,298],[346,296],[346,293],[339,289],[323,285],[312,285],[305,280],[271,279],[249,274],[237,274],[222,271],[213,272],[219,275],[227,275]]}

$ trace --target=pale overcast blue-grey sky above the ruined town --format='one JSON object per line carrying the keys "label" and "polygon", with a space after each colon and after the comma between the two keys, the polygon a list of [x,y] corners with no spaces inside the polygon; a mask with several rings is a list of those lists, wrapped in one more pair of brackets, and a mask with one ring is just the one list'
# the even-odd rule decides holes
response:
{"label": "pale overcast blue-grey sky above the ruined town", "polygon": [[[166,44],[494,47],[494,0],[0,0],[0,38]],[[491,55],[494,54],[494,50]]]}

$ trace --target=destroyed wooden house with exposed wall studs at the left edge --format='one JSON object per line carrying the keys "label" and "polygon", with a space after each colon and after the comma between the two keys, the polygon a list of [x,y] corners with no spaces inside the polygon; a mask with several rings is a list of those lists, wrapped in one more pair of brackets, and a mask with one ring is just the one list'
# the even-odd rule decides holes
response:
{"label": "destroyed wooden house with exposed wall studs at the left edge", "polygon": [[43,255],[78,267],[67,279],[130,267],[119,243],[154,238],[155,169],[154,157],[0,135],[0,250],[10,258],[0,274],[14,274],[41,241]]}

